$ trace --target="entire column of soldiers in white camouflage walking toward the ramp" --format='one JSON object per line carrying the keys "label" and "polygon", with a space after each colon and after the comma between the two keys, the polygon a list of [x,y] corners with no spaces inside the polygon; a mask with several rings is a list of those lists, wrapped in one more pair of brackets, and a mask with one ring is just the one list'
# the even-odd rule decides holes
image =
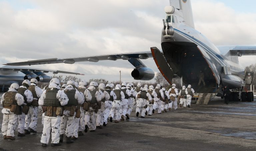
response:
{"label": "entire column of soldiers in white camouflage walking toward the ramp", "polygon": [[25,134],[37,133],[38,106],[42,107],[43,131],[41,143],[46,147],[50,136],[51,146],[60,146],[64,134],[66,143],[73,143],[78,136],[84,135],[88,129],[94,132],[96,128],[107,126],[110,122],[119,123],[130,119],[133,106],[136,105],[136,116],[151,116],[177,109],[177,98],[180,96],[180,106],[190,107],[194,90],[191,85],[182,87],[180,92],[175,84],[169,90],[160,84],[153,85],[123,82],[114,87],[113,83],[92,81],[86,88],[84,80],[79,83],[69,80],[60,85],[57,78],[51,79],[48,86],[42,90],[37,86],[35,78],[24,80],[22,85],[11,84],[9,91],[1,98],[3,105],[2,134],[4,139],[14,140],[14,131],[18,125],[19,137]]}

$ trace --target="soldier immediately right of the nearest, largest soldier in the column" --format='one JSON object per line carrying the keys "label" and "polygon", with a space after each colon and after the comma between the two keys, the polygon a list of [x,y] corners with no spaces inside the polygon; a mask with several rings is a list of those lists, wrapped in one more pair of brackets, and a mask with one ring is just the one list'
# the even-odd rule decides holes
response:
{"label": "soldier immediately right of the nearest, largest soldier in the column", "polygon": [[[84,103],[84,96],[74,88],[75,82],[69,80],[65,87],[64,93],[68,96],[68,103],[63,106],[63,116],[60,121],[60,142],[63,142],[63,136],[66,131],[66,143],[73,143],[71,137],[74,136],[75,118],[80,117],[79,104]],[[77,114],[77,115],[76,115]]]}

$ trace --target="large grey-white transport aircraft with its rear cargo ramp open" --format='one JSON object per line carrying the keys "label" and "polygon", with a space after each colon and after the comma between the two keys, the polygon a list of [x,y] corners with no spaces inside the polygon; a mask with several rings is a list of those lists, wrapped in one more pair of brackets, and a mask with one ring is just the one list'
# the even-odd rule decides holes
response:
{"label": "large grey-white transport aircraft with its rear cargo ramp open", "polygon": [[154,72],[140,59],[153,57],[159,71],[169,83],[174,76],[179,76],[183,78],[185,84],[197,85],[197,75],[202,71],[206,87],[198,87],[201,93],[216,93],[219,87],[226,85],[234,89],[234,95],[238,96],[245,84],[251,84],[253,72],[245,71],[239,64],[238,57],[256,55],[256,47],[216,47],[203,34],[195,30],[190,0],[170,0],[170,6],[166,6],[164,10],[166,18],[163,19],[161,32],[162,52],[152,47],[151,52],[54,58],[7,65],[74,64],[75,62],[123,59],[128,60],[135,67],[131,73],[134,79],[150,80],[154,77]]}

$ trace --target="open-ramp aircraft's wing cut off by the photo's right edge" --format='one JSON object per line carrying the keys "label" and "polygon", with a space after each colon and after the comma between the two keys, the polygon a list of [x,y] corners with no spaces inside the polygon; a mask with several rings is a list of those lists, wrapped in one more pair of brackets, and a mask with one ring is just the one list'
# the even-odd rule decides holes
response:
{"label": "open-ramp aircraft's wing cut off by the photo's right edge", "polygon": [[235,46],[229,50],[230,56],[256,55],[256,46]]}

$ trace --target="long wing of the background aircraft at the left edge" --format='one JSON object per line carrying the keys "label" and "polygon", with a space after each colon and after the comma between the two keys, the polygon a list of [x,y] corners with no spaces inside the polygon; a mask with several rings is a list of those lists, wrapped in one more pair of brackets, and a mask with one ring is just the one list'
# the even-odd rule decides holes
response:
{"label": "long wing of the background aircraft at the left edge", "polygon": [[80,74],[80,73],[73,73],[73,72],[60,71],[60,70],[47,70],[47,69],[17,67],[17,66],[3,66],[3,67],[0,67],[0,70],[3,70],[3,71],[13,70],[13,71],[21,71],[21,72],[27,72],[27,71],[28,72],[43,72],[43,73],[52,72],[53,74],[63,73],[63,74],[73,74],[73,75],[84,75],[84,74]]}

